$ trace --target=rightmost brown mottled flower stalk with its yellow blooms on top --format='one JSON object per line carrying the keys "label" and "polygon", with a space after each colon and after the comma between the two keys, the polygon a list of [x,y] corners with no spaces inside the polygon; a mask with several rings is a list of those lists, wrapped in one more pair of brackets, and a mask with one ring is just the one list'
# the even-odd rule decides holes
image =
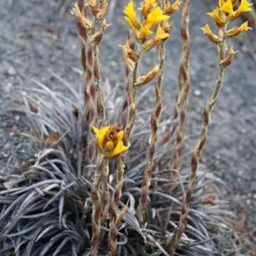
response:
{"label": "rightmost brown mottled flower stalk with its yellow blooms on top", "polygon": [[[244,12],[248,11],[248,8],[250,8],[250,5],[246,3],[247,3],[246,1],[241,1],[239,8],[237,8],[237,10],[234,11],[233,3],[231,0],[219,1],[219,6],[213,12],[208,13],[209,16],[211,16],[215,20],[216,25],[220,28],[218,35],[214,35],[212,33],[208,24],[206,24],[205,27],[202,28],[202,31],[205,33],[205,35],[214,44],[217,45],[218,54],[219,54],[218,76],[216,79],[214,90],[212,91],[212,94],[209,97],[209,100],[207,101],[207,104],[203,111],[202,129],[200,132],[200,136],[198,138],[198,143],[196,144],[196,147],[193,150],[193,154],[191,157],[189,183],[188,183],[188,188],[182,202],[182,210],[180,214],[179,226],[177,230],[175,230],[174,234],[171,237],[169,237],[169,239],[166,242],[166,247],[168,248],[168,252],[170,253],[170,255],[174,255],[175,251],[177,250],[177,247],[179,246],[180,238],[187,227],[189,208],[190,208],[190,204],[193,196],[193,191],[196,186],[197,167],[200,161],[202,150],[205,145],[205,141],[207,139],[207,129],[208,129],[209,121],[211,118],[212,109],[214,108],[214,105],[216,103],[216,100],[221,90],[221,86],[223,84],[225,68],[227,68],[232,63],[234,55],[236,54],[236,52],[232,49],[232,47],[230,47],[229,51],[227,51],[228,49],[227,42],[226,42],[227,35],[228,35],[227,26],[231,20],[236,19],[238,17],[236,14],[237,12],[241,14],[242,13],[241,10],[244,10]],[[218,11],[218,14],[217,14],[217,11]],[[243,28],[243,29],[244,31],[246,31],[248,28]]]}

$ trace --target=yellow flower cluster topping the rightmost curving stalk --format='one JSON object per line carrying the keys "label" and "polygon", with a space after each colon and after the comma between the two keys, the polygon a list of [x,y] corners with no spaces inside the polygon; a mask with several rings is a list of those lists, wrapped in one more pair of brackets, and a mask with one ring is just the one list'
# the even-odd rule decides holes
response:
{"label": "yellow flower cluster topping the rightmost curving stalk", "polygon": [[[241,0],[241,3],[236,8],[236,0],[219,0],[218,7],[216,7],[212,12],[207,13],[212,19],[214,19],[216,25],[222,29],[225,28],[225,37],[231,38],[239,35],[243,31],[248,31],[248,21],[244,22],[241,26],[237,28],[232,28],[227,30],[227,24],[230,20],[237,19],[244,12],[252,11],[252,3],[248,3],[247,0]],[[219,35],[214,35],[209,24],[205,24],[202,31],[207,35],[207,37],[215,44],[220,44],[223,42],[224,34],[219,33]]]}

